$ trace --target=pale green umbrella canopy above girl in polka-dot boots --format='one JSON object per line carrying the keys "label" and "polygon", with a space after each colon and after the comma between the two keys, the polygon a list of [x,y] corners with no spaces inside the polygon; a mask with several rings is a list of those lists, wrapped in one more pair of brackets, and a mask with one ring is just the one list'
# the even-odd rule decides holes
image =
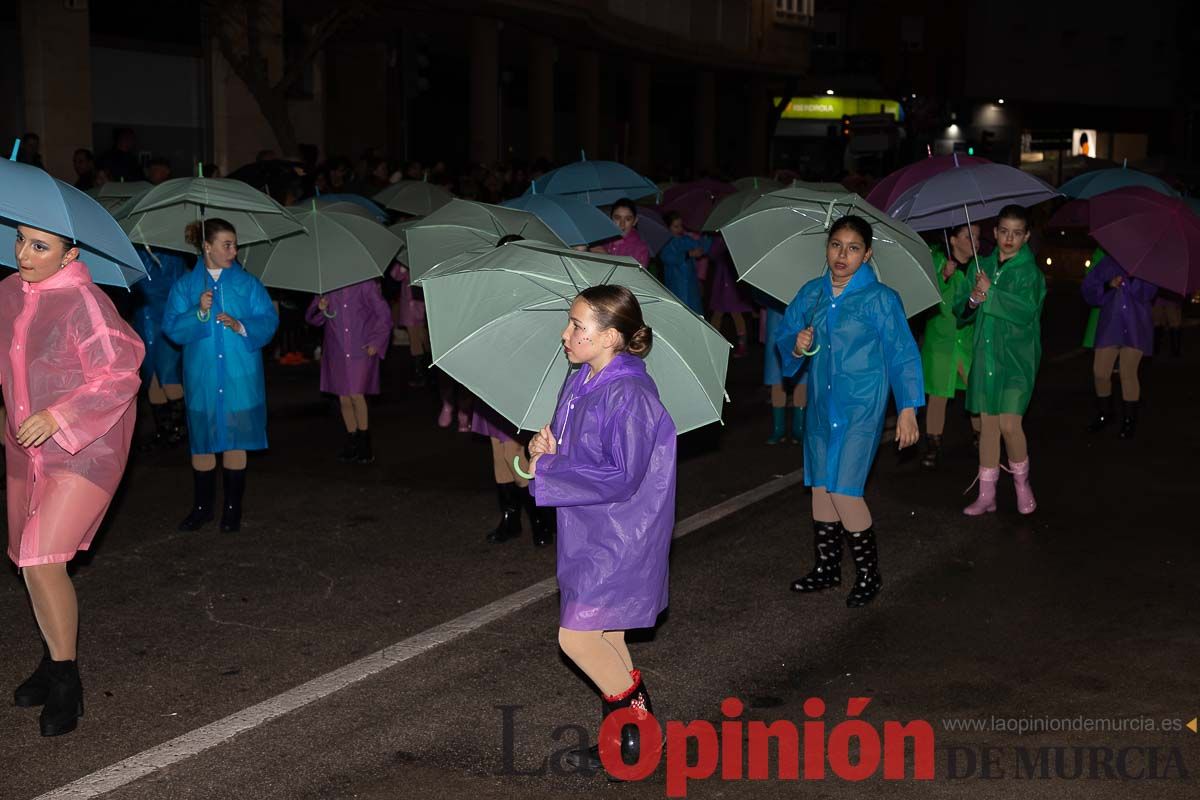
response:
{"label": "pale green umbrella canopy above girl in polka-dot boots", "polygon": [[721,235],[738,277],[787,303],[800,287],[824,273],[829,228],[846,215],[871,223],[871,265],[880,281],[900,294],[905,314],[940,302],[929,245],[853,192],[803,187],[772,192],[726,223]]}

